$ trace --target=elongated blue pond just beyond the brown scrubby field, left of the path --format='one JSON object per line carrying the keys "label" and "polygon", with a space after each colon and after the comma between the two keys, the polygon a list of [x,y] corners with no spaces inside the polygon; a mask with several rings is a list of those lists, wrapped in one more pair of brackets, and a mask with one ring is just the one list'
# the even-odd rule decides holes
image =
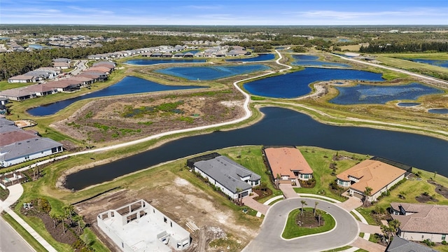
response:
{"label": "elongated blue pond just beyond the brown scrubby field, left of the path", "polygon": [[176,66],[156,70],[156,73],[164,73],[170,76],[185,78],[187,80],[216,80],[239,74],[266,71],[271,69],[262,64],[246,66]]}

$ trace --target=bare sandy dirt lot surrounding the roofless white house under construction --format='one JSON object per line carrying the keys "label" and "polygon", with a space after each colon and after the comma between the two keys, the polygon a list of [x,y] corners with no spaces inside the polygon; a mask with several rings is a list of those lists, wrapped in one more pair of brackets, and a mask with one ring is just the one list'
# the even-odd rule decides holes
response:
{"label": "bare sandy dirt lot surrounding the roofless white house under construction", "polygon": [[[235,216],[234,211],[223,207],[218,200],[196,188],[186,179],[166,170],[152,174],[151,180],[137,179],[130,188],[102,195],[75,207],[78,214],[83,215],[85,221],[92,224],[98,235],[97,214],[140,199],[146,200],[192,233],[193,243],[189,251],[201,251],[200,247],[206,251],[241,251],[248,241],[258,234],[261,222],[259,218],[247,216],[249,220],[253,218],[253,227],[256,228],[242,225],[237,221],[241,218]],[[189,221],[204,230],[204,235],[200,235],[199,230],[193,233],[187,228],[186,223]],[[209,247],[207,244],[214,239],[224,241],[218,243],[222,246]],[[102,240],[111,246],[110,241],[106,241],[104,237]]]}

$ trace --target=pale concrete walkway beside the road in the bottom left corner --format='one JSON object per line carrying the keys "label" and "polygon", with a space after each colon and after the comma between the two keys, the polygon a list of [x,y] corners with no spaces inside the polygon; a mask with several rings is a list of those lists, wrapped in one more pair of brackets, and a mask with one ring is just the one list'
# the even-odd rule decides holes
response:
{"label": "pale concrete walkway beside the road in the bottom left corner", "polygon": [[48,250],[49,252],[57,252],[56,249],[48,243],[48,241],[45,241],[45,239],[43,239],[43,237],[41,237],[41,235],[39,235],[36,230],[31,228],[28,223],[23,221],[20,216],[15,214],[15,212],[9,208],[12,204],[14,204],[14,202],[17,202],[19,200],[20,196],[22,196],[23,186],[21,184],[15,184],[14,186],[9,186],[8,190],[8,198],[6,198],[4,202],[0,200],[0,212],[3,210],[6,211],[6,213],[8,213],[15,221],[17,221],[17,223],[25,228],[25,230],[27,230],[27,232],[29,232],[29,234],[34,237],[34,239],[36,239],[36,241],[38,241],[38,243],[40,243],[46,250]]}

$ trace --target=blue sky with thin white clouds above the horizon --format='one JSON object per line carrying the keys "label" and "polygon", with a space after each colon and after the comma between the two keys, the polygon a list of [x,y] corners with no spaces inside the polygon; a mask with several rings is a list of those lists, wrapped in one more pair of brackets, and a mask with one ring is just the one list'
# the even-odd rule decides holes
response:
{"label": "blue sky with thin white clouds above the horizon", "polygon": [[448,0],[0,0],[1,24],[448,25]]}

